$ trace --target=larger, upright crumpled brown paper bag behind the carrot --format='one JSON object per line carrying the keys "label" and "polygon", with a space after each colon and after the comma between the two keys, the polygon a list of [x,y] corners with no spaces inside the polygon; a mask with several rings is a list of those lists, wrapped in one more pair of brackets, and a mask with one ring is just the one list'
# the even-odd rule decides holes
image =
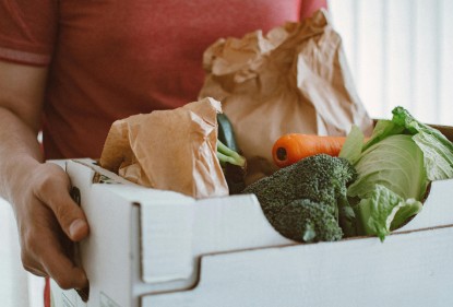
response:
{"label": "larger, upright crumpled brown paper bag behind the carrot", "polygon": [[200,97],[222,102],[248,161],[249,182],[276,170],[272,146],[285,133],[345,135],[351,123],[371,133],[325,10],[265,36],[257,31],[220,38],[205,50],[203,63]]}

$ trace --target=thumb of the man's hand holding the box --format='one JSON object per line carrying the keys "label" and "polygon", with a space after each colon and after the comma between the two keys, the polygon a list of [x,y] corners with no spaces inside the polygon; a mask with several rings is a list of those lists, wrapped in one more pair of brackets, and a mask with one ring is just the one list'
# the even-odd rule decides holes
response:
{"label": "thumb of the man's hand holding the box", "polygon": [[35,194],[51,209],[67,236],[73,241],[80,241],[90,232],[85,214],[69,193],[67,174],[57,165],[46,166],[48,172],[41,175]]}

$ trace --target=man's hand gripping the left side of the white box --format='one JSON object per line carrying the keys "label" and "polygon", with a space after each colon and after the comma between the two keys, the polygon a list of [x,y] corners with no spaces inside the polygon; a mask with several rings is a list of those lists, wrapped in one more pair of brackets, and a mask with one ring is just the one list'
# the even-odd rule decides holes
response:
{"label": "man's hand gripping the left side of the white box", "polygon": [[86,287],[85,272],[72,261],[72,246],[88,235],[88,224],[70,197],[67,174],[51,163],[36,164],[17,181],[13,203],[24,268],[50,276],[61,288]]}

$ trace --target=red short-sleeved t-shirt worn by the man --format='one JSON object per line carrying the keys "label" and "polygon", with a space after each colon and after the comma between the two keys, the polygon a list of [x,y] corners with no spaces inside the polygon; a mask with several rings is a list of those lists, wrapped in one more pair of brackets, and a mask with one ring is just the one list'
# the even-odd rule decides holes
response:
{"label": "red short-sleeved t-shirt worn by the man", "polygon": [[47,158],[96,158],[116,119],[195,101],[203,51],[217,38],[266,32],[325,5],[325,0],[5,0],[0,58],[50,64]]}

